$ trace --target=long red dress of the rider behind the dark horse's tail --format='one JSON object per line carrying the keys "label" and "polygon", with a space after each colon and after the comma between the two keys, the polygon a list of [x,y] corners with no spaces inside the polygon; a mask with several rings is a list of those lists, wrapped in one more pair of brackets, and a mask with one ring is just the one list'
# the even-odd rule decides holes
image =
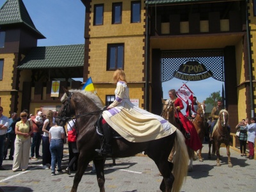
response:
{"label": "long red dress of the rider behind the dark horse's tail", "polygon": [[[202,148],[202,143],[201,143],[200,138],[196,132],[195,126],[180,111],[181,109],[184,109],[182,100],[180,98],[177,98],[174,102],[174,106],[175,106],[175,108],[177,108],[179,119],[180,119],[180,122],[182,123],[184,129],[186,130],[186,132],[190,133],[190,139],[189,140],[186,139],[186,145],[188,145],[188,147],[192,148],[195,151]],[[175,113],[175,118],[177,118],[177,113]]]}

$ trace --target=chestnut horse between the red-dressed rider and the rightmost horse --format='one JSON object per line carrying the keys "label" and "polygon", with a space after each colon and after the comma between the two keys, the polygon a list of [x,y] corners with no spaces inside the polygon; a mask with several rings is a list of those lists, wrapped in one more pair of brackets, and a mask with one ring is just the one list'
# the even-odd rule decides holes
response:
{"label": "chestnut horse between the red-dressed rider and the rightmost horse", "polygon": [[[204,136],[205,136],[205,120],[204,120],[205,104],[204,104],[204,102],[202,102],[202,103],[197,102],[197,106],[198,106],[198,109],[196,111],[197,114],[196,114],[196,117],[192,120],[192,123],[196,128],[196,132],[200,138],[201,143],[203,143]],[[203,161],[202,148],[199,149],[198,160]]]}

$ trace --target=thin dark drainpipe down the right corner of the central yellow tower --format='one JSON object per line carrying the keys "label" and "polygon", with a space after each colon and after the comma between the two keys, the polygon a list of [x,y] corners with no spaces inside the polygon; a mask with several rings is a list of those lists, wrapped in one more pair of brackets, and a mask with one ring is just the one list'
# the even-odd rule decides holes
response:
{"label": "thin dark drainpipe down the right corner of the central yellow tower", "polygon": [[148,92],[149,92],[149,83],[148,83],[148,3],[146,4],[146,49],[145,49],[145,110],[149,111],[149,99],[148,99]]}

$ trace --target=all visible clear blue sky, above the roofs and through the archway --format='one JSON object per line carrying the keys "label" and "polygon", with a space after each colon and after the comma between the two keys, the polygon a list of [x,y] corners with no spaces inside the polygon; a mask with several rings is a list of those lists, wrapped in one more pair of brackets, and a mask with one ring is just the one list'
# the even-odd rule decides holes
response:
{"label": "all visible clear blue sky, above the roofs and through the archway", "polygon": [[[0,0],[0,6],[5,1]],[[84,44],[85,6],[80,0],[23,0],[23,3],[36,29],[46,37],[38,40],[38,46]],[[212,77],[189,82],[173,78],[162,84],[163,99],[169,98],[168,90],[178,90],[184,83],[199,102],[209,97],[212,92],[221,91],[223,84]]]}

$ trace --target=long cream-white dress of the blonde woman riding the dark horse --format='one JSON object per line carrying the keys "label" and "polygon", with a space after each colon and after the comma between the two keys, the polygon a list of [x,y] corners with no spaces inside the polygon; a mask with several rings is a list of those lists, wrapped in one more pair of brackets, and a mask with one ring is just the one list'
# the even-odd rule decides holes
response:
{"label": "long cream-white dress of the blonde woman riding the dark horse", "polygon": [[154,115],[132,104],[127,84],[118,81],[115,101],[103,112],[106,122],[130,142],[157,140],[176,131],[163,117]]}

